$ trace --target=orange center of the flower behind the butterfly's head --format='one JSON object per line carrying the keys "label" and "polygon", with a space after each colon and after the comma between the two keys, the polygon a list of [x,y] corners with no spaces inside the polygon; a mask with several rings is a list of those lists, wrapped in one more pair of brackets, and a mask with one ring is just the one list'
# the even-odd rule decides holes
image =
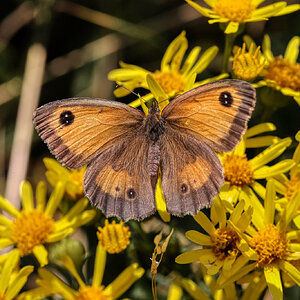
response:
{"label": "orange center of the flower behind the butterfly's head", "polygon": [[177,71],[157,70],[152,75],[166,94],[183,92],[185,81]]}

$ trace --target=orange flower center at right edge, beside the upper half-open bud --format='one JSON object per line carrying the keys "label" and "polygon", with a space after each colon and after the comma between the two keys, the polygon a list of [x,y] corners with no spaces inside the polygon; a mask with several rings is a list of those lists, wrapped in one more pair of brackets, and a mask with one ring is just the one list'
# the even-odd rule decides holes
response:
{"label": "orange flower center at right edge, beside the upper half-open bud", "polygon": [[282,88],[300,92],[300,64],[291,64],[282,57],[276,57],[265,70],[265,78],[275,81]]}

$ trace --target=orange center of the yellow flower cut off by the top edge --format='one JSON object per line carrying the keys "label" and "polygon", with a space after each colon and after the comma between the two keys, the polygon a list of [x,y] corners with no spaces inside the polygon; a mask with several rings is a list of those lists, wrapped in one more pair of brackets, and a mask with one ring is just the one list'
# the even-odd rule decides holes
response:
{"label": "orange center of the yellow flower cut off by the top edge", "polygon": [[230,21],[244,23],[256,8],[251,2],[251,0],[217,0],[214,11]]}

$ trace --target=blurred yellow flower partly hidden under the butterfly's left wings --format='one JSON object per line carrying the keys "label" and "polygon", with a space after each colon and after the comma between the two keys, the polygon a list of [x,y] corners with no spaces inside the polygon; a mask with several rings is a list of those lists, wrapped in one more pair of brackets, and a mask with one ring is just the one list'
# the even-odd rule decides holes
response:
{"label": "blurred yellow flower partly hidden under the butterfly's left wings", "polygon": [[61,181],[65,186],[65,193],[71,199],[78,199],[84,195],[83,177],[86,166],[75,170],[63,167],[53,158],[44,158],[43,162],[47,168],[46,177],[49,183],[55,187]]}

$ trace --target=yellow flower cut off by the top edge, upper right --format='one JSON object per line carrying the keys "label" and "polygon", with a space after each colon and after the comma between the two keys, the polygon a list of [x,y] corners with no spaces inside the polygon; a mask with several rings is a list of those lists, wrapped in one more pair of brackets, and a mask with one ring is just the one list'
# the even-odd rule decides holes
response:
{"label": "yellow flower cut off by the top edge, upper right", "polygon": [[210,7],[205,8],[191,0],[185,0],[200,14],[210,18],[208,23],[225,23],[225,33],[235,33],[240,24],[268,20],[270,17],[282,16],[299,10],[300,5],[288,5],[286,1],[276,2],[261,8],[264,0],[204,0]]}

